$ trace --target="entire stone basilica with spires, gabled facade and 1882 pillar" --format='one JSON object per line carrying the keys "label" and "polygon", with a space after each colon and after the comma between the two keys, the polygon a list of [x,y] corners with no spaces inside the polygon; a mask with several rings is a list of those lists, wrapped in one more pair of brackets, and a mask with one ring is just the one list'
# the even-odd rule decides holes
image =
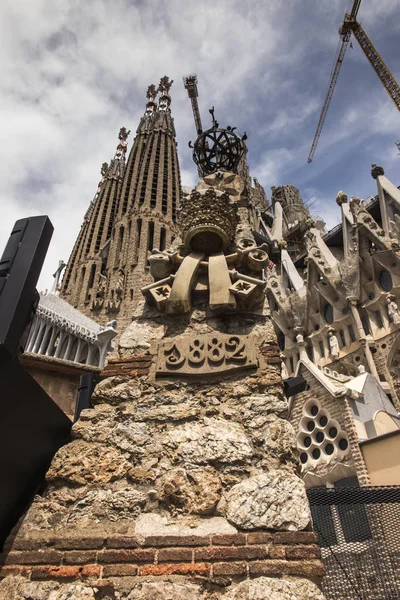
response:
{"label": "entire stone basilica with spires, gabled facade and 1882 pillar", "polygon": [[182,191],[171,83],[129,155],[120,130],[65,269],[63,301],[118,337],[0,598],[336,598],[306,488],[400,484],[399,190],[373,165],[378,195],[340,192],[327,233],[293,185],[269,205],[211,110]]}

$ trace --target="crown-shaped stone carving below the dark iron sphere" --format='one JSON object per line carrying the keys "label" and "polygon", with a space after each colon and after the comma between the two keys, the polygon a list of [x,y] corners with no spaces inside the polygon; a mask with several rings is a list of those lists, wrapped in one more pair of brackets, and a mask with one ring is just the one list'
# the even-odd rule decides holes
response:
{"label": "crown-shaped stone carving below the dark iron sphere", "polygon": [[210,255],[227,250],[237,224],[236,205],[226,192],[211,187],[204,192],[193,190],[182,200],[179,226],[187,251]]}

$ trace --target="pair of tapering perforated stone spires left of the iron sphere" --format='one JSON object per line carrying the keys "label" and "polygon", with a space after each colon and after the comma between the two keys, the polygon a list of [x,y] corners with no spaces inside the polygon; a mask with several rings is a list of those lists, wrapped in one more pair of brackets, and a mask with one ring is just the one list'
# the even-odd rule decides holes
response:
{"label": "pair of tapering perforated stone spires left of the iron sphere", "polygon": [[131,320],[140,287],[150,281],[149,255],[163,251],[174,235],[181,184],[171,85],[163,77],[158,88],[149,86],[126,168],[129,132],[121,130],[118,156],[103,169],[63,280],[65,299],[100,323],[116,319],[119,331]]}

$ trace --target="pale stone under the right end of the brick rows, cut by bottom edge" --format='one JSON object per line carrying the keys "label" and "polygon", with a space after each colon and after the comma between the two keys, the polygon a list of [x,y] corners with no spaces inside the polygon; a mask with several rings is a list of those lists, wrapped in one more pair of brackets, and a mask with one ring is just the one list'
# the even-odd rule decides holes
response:
{"label": "pale stone under the right end of the brick rows, cut by bottom edge", "polygon": [[258,577],[229,588],[224,600],[324,600],[317,586],[307,579]]}

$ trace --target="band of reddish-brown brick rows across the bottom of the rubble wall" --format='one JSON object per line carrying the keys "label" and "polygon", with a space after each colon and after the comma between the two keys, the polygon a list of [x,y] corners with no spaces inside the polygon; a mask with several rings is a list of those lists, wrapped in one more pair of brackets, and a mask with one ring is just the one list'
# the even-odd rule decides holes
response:
{"label": "band of reddish-brown brick rows across the bottom of the rubble wall", "polygon": [[[0,578],[32,579],[189,575],[246,578],[295,575],[319,578],[323,567],[311,531],[236,533],[214,536],[75,537],[18,540],[0,555]],[[145,547],[144,547],[145,546]],[[3,566],[1,566],[3,565]]]}

